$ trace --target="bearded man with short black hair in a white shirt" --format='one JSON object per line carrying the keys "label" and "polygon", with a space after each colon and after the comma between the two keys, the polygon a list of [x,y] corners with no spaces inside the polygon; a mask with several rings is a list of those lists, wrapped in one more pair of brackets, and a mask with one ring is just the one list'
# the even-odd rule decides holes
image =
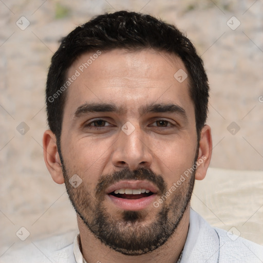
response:
{"label": "bearded man with short black hair in a white shirt", "polygon": [[202,60],[172,25],[119,11],[69,33],[48,72],[43,146],[80,233],[43,241],[37,262],[262,262],[262,247],[190,207],[212,154],[208,98]]}

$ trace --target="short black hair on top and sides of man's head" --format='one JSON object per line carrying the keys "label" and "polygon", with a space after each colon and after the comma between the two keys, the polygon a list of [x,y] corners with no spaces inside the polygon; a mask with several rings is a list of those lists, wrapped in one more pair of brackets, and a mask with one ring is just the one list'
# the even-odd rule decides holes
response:
{"label": "short black hair on top and sides of man's head", "polygon": [[[198,141],[208,112],[209,85],[203,61],[187,37],[175,26],[137,12],[105,13],[78,26],[54,53],[46,83],[47,121],[60,151],[67,71],[81,54],[112,49],[156,51],[176,54],[187,70],[190,96],[194,102]],[[64,85],[64,88],[63,88]]]}

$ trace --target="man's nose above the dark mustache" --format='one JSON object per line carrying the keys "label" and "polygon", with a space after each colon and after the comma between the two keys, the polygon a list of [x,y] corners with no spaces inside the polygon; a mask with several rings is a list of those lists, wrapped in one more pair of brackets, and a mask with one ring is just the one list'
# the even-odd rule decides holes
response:
{"label": "man's nose above the dark mustache", "polygon": [[139,125],[129,135],[120,130],[111,161],[115,167],[129,168],[131,171],[149,168],[153,161],[150,147],[147,135]]}

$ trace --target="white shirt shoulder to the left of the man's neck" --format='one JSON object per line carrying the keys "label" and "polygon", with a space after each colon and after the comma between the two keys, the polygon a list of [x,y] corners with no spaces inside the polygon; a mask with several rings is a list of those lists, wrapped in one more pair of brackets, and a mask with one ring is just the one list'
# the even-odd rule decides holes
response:
{"label": "white shirt shoulder to the left of the man's neck", "polygon": [[76,231],[52,236],[37,241],[27,242],[24,246],[14,249],[12,246],[0,257],[0,263],[74,263],[73,240]]}

